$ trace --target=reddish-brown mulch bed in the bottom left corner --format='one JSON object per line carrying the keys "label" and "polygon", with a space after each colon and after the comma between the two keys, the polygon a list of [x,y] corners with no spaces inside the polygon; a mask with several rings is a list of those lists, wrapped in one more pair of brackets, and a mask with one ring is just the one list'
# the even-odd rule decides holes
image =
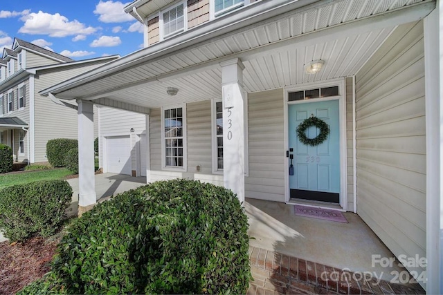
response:
{"label": "reddish-brown mulch bed in the bottom left corner", "polygon": [[58,242],[38,236],[24,244],[0,242],[0,294],[15,294],[49,272]]}

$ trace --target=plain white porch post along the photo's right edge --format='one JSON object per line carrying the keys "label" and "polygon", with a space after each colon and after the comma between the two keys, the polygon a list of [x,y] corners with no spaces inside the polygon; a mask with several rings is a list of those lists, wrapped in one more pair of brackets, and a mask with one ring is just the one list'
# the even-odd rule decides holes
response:
{"label": "plain white porch post along the photo's right edge", "polygon": [[424,19],[426,91],[426,283],[443,294],[443,1]]}

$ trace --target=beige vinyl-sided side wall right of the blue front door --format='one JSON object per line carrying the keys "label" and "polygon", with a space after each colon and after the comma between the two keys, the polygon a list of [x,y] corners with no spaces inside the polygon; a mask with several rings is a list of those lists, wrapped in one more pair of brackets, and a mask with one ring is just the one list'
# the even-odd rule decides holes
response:
{"label": "beige vinyl-sided side wall right of the blue front door", "polygon": [[396,256],[426,257],[422,21],[399,26],[356,75],[356,137],[357,213]]}

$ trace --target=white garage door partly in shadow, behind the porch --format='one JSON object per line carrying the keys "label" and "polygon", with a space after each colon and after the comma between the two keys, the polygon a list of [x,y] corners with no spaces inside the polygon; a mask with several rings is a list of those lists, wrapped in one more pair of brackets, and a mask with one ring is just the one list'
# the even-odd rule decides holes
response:
{"label": "white garage door partly in shadow, behind the porch", "polygon": [[107,171],[131,175],[131,140],[129,136],[106,138]]}

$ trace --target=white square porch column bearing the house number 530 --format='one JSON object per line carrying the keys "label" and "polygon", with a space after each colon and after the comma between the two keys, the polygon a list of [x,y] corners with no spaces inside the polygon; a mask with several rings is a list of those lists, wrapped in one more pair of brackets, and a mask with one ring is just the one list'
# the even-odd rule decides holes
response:
{"label": "white square porch column bearing the house number 530", "polygon": [[244,202],[244,66],[239,59],[221,66],[223,88],[223,180],[224,187],[237,193]]}

